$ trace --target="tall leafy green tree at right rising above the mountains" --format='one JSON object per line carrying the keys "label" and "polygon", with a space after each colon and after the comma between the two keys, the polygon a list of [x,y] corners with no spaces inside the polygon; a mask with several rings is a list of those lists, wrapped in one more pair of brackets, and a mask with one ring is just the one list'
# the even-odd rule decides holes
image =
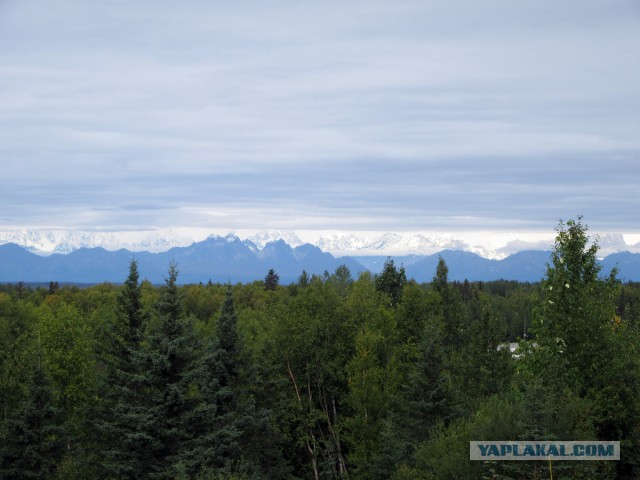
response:
{"label": "tall leafy green tree at right rising above the mountains", "polygon": [[598,277],[598,245],[589,245],[580,220],[558,226],[552,263],[542,283],[542,305],[532,332],[538,349],[532,361],[549,382],[581,392],[606,370],[611,352],[615,271]]}

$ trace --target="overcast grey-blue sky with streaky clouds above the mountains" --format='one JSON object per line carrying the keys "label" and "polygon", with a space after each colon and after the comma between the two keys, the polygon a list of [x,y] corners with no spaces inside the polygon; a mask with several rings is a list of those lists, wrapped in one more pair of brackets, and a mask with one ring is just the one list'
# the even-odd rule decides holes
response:
{"label": "overcast grey-blue sky with streaky clouds above the mountains", "polygon": [[0,228],[640,233],[638,0],[0,0]]}

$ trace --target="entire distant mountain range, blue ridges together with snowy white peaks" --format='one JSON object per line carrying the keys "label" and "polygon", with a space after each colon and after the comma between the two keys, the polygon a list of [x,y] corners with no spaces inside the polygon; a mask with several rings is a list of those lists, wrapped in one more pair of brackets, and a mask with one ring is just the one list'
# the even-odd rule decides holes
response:
{"label": "entire distant mountain range, blue ridges together with snowy white peaks", "polygon": [[[93,232],[96,233],[96,232]],[[213,280],[216,282],[252,282],[264,278],[273,268],[280,275],[283,284],[295,282],[301,272],[310,275],[325,275],[334,272],[339,266],[346,266],[353,278],[362,272],[378,273],[387,258],[406,268],[407,278],[418,282],[428,282],[433,278],[439,259],[446,261],[449,267],[449,279],[454,281],[491,281],[516,280],[537,282],[545,273],[549,261],[549,249],[519,251],[503,259],[484,258],[480,255],[460,249],[443,248],[442,244],[454,242],[454,245],[468,244],[457,238],[446,237],[439,243],[431,237],[385,234],[372,238],[357,234],[319,236],[324,239],[325,248],[354,249],[360,255],[333,255],[310,243],[292,246],[305,241],[303,235],[276,232],[255,233],[250,239],[240,239],[237,235],[210,235],[188,246],[172,246],[172,241],[185,242],[182,233],[173,232],[158,238],[149,234],[140,234],[137,243],[132,235],[119,238],[118,234],[93,235],[77,233],[66,237],[59,232],[21,232],[16,240],[31,241],[39,247],[46,246],[57,254],[35,254],[33,248],[26,249],[17,242],[0,245],[0,282],[47,283],[49,281],[93,284],[101,282],[121,282],[132,258],[138,261],[140,272],[145,279],[162,283],[166,269],[172,262],[180,266],[181,283],[197,283]],[[129,232],[130,233],[130,232]],[[308,234],[309,232],[305,232]],[[16,233],[16,235],[18,235]],[[276,238],[285,236],[284,238]],[[57,240],[63,240],[56,243]],[[122,243],[119,243],[119,241]],[[607,237],[606,245],[616,243],[615,237]],[[287,242],[288,241],[288,242]],[[102,242],[101,244],[96,244]],[[456,243],[459,242],[459,243]],[[320,243],[320,242],[318,242]],[[115,245],[114,245],[115,244]],[[118,248],[122,245],[129,248]],[[526,242],[508,242],[504,249],[520,248]],[[81,245],[85,248],[73,249]],[[625,243],[626,245],[626,243]],[[105,247],[112,247],[107,250]],[[137,250],[135,250],[137,248]],[[428,253],[394,254],[409,251],[439,249]],[[60,250],[72,250],[60,254]],[[150,252],[150,249],[162,250]],[[546,250],[546,251],[545,251]],[[485,250],[486,251],[486,250]],[[51,253],[51,252],[49,252]],[[622,280],[640,280],[640,253],[613,253],[601,259],[605,272],[618,268]]]}

